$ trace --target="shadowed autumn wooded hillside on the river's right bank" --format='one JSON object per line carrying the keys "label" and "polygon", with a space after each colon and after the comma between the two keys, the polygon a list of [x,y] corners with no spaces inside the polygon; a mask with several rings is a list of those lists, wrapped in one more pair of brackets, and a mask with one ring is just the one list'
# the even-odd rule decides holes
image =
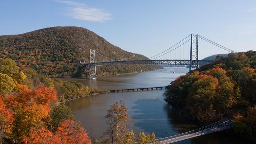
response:
{"label": "shadowed autumn wooded hillside on the river's right bank", "polygon": [[172,82],[165,100],[198,122],[234,116],[232,131],[256,139],[256,51],[217,57]]}

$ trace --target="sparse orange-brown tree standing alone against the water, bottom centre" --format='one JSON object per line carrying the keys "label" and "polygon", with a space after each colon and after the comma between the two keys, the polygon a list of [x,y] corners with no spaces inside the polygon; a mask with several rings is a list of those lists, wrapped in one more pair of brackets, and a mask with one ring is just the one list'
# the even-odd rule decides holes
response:
{"label": "sparse orange-brown tree standing alone against the water, bottom centre", "polygon": [[123,101],[115,102],[110,105],[110,109],[105,118],[109,125],[109,129],[106,131],[107,138],[111,140],[112,144],[117,144],[119,137],[121,137],[127,130],[127,126],[132,126],[130,123],[130,116],[127,113],[128,108]]}

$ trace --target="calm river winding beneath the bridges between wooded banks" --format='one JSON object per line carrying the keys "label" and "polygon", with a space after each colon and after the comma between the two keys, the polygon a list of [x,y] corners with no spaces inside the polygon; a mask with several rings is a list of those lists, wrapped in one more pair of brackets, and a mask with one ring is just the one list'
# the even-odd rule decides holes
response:
{"label": "calm river winding beneath the bridges between wooded banks", "polygon": [[[166,67],[164,69],[125,74],[103,76],[93,79],[61,78],[66,81],[78,81],[90,88],[100,90],[128,89],[140,87],[166,86],[180,75],[189,71],[183,67]],[[122,100],[128,107],[132,117],[132,129],[135,133],[156,134],[157,138],[168,137],[198,128],[197,124],[184,118],[174,107],[163,100],[165,90],[145,90],[135,92],[116,92],[96,94],[95,96],[78,98],[65,104],[74,112],[77,120],[82,122],[89,137],[102,137],[107,129],[106,115],[109,105]],[[245,144],[244,139],[229,136],[226,133],[212,133],[197,138],[187,139],[176,144]]]}

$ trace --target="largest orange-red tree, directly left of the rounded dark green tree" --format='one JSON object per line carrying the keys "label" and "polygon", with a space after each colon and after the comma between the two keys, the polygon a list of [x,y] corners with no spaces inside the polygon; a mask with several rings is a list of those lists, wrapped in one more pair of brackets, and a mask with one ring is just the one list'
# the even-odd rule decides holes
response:
{"label": "largest orange-red tree, directly left of the rounded dark green tree", "polygon": [[50,112],[50,103],[57,100],[56,91],[39,86],[30,90],[22,87],[19,93],[8,94],[6,106],[14,112],[11,138],[21,142],[29,132],[42,127]]}

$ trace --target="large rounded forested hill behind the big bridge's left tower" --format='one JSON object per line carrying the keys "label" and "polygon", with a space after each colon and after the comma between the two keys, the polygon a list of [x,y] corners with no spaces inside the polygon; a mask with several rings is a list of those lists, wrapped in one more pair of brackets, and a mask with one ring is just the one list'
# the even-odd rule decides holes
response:
{"label": "large rounded forested hill behind the big bridge's left tower", "polygon": [[[20,35],[0,36],[0,57],[11,58],[20,67],[31,67],[48,76],[82,76],[78,61],[89,61],[89,49],[96,50],[96,61],[146,59],[112,45],[96,33],[80,27],[52,27]],[[80,66],[81,67],[81,66]],[[104,66],[102,75],[151,70],[160,66]]]}

